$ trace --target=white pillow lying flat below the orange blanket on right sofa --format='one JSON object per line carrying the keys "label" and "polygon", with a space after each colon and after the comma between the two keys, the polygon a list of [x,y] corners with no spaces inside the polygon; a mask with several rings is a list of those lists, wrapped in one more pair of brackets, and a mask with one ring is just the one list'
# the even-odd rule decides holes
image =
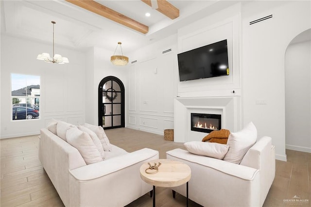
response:
{"label": "white pillow lying flat below the orange blanket on right sofa", "polygon": [[229,146],[216,142],[189,141],[184,143],[190,153],[224,159]]}

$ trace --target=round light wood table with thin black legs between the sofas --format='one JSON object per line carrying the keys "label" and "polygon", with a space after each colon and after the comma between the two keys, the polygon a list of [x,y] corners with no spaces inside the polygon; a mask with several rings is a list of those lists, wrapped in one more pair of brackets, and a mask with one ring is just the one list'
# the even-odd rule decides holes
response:
{"label": "round light wood table with thin black legs between the sofas", "polygon": [[[158,166],[158,171],[147,170],[150,167],[144,163],[140,167],[140,177],[146,183],[153,185],[153,206],[155,207],[155,186],[176,187],[187,183],[187,207],[188,207],[188,181],[191,178],[191,169],[185,163],[171,159],[156,159],[149,161],[151,166]],[[155,173],[156,172],[156,173]]]}

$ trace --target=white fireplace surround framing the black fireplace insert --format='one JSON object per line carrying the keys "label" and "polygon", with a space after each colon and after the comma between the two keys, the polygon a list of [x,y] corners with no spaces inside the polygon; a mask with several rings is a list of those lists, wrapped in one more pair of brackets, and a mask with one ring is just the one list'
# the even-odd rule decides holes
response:
{"label": "white fireplace surround framing the black fireplace insert", "polygon": [[241,129],[241,97],[175,97],[174,141],[201,141],[204,132],[191,131],[191,113],[220,114],[221,128],[232,132]]}

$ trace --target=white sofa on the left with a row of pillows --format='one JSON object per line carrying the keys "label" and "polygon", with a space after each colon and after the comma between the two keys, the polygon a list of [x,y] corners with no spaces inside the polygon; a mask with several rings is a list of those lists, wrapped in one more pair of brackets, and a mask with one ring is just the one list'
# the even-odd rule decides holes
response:
{"label": "white sofa on the left with a row of pillows", "polygon": [[39,159],[66,207],[123,207],[152,190],[140,179],[139,168],[158,159],[158,151],[127,153],[110,144],[103,161],[86,164],[77,148],[52,131],[41,129]]}

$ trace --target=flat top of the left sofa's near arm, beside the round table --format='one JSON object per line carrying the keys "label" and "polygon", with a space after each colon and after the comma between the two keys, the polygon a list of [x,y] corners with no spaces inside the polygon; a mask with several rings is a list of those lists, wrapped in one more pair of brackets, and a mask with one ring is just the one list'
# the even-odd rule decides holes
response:
{"label": "flat top of the left sofa's near arm, beside the round table", "polygon": [[116,156],[108,160],[73,169],[70,171],[70,174],[80,181],[92,180],[122,170],[151,157],[158,159],[158,156],[158,151],[144,148],[126,155]]}

